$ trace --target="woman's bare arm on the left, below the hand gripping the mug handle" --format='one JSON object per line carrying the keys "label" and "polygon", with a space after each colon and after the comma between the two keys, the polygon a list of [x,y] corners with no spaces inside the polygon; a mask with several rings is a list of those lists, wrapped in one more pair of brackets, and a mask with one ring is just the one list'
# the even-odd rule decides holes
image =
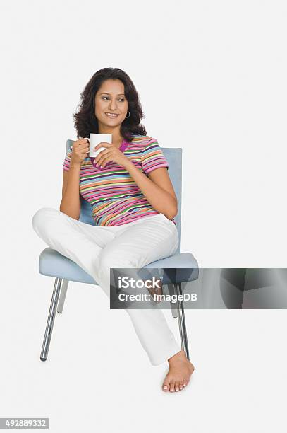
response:
{"label": "woman's bare arm on the left, below the hand gripping the mug handle", "polygon": [[80,218],[80,165],[71,164],[63,170],[63,187],[60,211],[73,219]]}

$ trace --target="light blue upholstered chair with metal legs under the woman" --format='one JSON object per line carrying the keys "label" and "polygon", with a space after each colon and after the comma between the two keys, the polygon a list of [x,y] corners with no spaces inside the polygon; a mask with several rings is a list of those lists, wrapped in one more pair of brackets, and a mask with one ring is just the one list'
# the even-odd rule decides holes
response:
{"label": "light blue upholstered chair with metal legs under the woman", "polygon": [[[66,152],[73,144],[72,140],[66,142]],[[180,253],[181,246],[181,180],[182,180],[182,149],[181,148],[165,148],[161,150],[169,163],[169,176],[173,183],[173,188],[178,198],[178,214],[176,215],[176,227],[178,229],[179,244],[176,253],[168,258],[157,260],[149,263],[145,268],[162,268],[164,269],[164,278],[162,280],[163,288],[168,287],[169,294],[182,294],[181,283],[190,282],[198,278],[198,264],[197,260],[191,253]],[[66,155],[66,154],[65,154]],[[94,225],[92,218],[92,209],[89,202],[81,201],[80,221],[86,224]],[[54,319],[56,311],[61,313],[63,311],[63,304],[66,298],[66,291],[69,281],[82,282],[87,284],[97,284],[97,282],[79,267],[75,262],[66,258],[52,248],[44,248],[39,255],[39,273],[54,277],[54,290],[51,298],[51,305],[49,309],[49,316],[47,326],[44,334],[44,341],[40,359],[46,361],[49,345],[51,341],[51,333],[54,326]],[[98,284],[97,284],[98,285]],[[183,301],[171,303],[171,311],[174,318],[178,318],[178,326],[181,336],[181,347],[185,350],[185,354],[189,359],[188,352],[188,337],[185,328],[185,314],[183,308]]]}

